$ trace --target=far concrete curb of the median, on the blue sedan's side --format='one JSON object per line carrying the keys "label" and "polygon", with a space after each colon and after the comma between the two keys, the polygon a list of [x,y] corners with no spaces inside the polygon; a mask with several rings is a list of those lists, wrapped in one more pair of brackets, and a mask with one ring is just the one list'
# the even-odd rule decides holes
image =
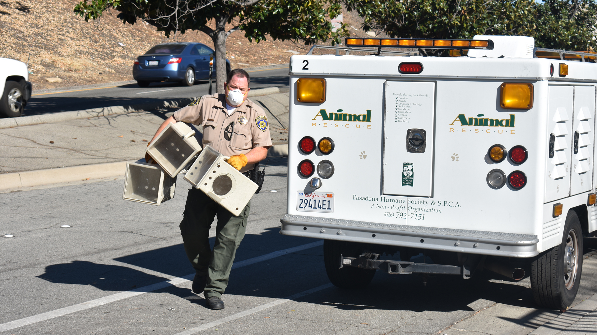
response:
{"label": "far concrete curb of the median, on the blue sedan's side", "polygon": [[[248,96],[249,97],[259,97],[260,95],[269,95],[269,94],[275,94],[275,93],[279,93],[279,92],[280,92],[280,89],[277,87],[252,89],[251,91],[249,91]],[[130,105],[130,106],[110,106],[110,107],[93,108],[93,109],[88,109],[88,110],[63,111],[60,113],[52,113],[52,114],[32,115],[32,116],[23,116],[23,117],[9,117],[9,118],[5,118],[5,119],[0,119],[0,129],[19,127],[19,126],[38,125],[39,123],[51,123],[51,122],[61,122],[61,121],[74,120],[74,119],[85,119],[87,117],[108,116],[108,115],[113,115],[113,114],[128,114],[128,113],[134,113],[136,111],[155,110],[158,108],[179,108],[179,107],[186,106],[193,100],[196,100],[196,97],[173,98],[173,99],[159,101],[158,103],[137,104],[137,105]]]}

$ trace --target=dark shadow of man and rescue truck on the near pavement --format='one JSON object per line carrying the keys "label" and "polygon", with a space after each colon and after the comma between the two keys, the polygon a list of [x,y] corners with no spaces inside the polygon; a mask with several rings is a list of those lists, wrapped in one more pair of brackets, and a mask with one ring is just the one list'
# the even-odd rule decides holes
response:
{"label": "dark shadow of man and rescue truck on the near pavement", "polygon": [[[245,235],[236,253],[236,262],[315,241],[310,238],[282,236],[278,232],[279,228],[276,227],[268,228],[261,234]],[[597,245],[597,238],[585,240],[589,249]],[[212,245],[213,242],[214,238],[210,238]],[[148,250],[115,260],[175,277],[193,273],[182,244]],[[45,273],[39,278],[52,283],[91,285],[109,291],[131,290],[135,286],[141,287],[165,280],[125,266],[79,260],[47,266]],[[233,269],[226,294],[281,299],[328,283],[323,262],[323,247],[319,246]],[[167,287],[159,291],[205,306],[205,300],[186,287]],[[478,308],[475,302],[479,299],[537,309],[530,287],[509,282],[505,277],[491,271],[475,272],[469,280],[463,280],[460,276],[429,275],[426,285],[423,284],[423,275],[390,275],[378,271],[371,284],[361,290],[332,287],[304,296],[300,300],[347,311],[367,308],[443,312],[475,311]],[[537,313],[549,314],[551,311],[539,309]],[[524,320],[511,321],[522,324],[527,322],[526,324],[532,327],[536,319],[537,315],[531,313]]]}

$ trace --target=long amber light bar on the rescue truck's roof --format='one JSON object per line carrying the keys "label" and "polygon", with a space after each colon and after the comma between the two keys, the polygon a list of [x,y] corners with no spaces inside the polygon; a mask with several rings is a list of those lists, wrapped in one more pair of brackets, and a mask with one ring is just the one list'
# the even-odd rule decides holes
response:
{"label": "long amber light bar on the rescue truck's roof", "polygon": [[493,49],[491,39],[415,39],[415,38],[347,38],[346,46],[421,49]]}

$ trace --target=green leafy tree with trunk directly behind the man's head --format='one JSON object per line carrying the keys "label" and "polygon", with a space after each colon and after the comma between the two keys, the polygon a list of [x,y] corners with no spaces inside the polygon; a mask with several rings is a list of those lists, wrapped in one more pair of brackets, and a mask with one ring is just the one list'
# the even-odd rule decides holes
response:
{"label": "green leafy tree with trunk directly behind the man's head", "polygon": [[[187,30],[206,33],[216,50],[216,86],[223,93],[226,81],[226,39],[236,30],[249,41],[270,35],[315,44],[348,36],[346,24],[332,32],[330,18],[340,14],[339,0],[82,0],[74,11],[86,21],[96,20],[110,9],[125,23],[147,22],[167,37]],[[215,27],[210,27],[211,22]],[[226,24],[234,26],[226,30]]]}

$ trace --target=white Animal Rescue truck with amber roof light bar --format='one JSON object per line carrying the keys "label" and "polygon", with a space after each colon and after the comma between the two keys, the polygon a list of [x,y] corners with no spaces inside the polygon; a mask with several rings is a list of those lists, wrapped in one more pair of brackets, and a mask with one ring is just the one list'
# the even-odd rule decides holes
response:
{"label": "white Animal Rescue truck with amber roof light bar", "polygon": [[[407,48],[453,57],[392,55]],[[281,234],[324,239],[338,287],[365,287],[377,270],[489,269],[530,275],[541,306],[571,305],[583,237],[597,231],[595,52],[526,36],[313,49],[290,62]],[[420,253],[433,262],[411,262]]]}

